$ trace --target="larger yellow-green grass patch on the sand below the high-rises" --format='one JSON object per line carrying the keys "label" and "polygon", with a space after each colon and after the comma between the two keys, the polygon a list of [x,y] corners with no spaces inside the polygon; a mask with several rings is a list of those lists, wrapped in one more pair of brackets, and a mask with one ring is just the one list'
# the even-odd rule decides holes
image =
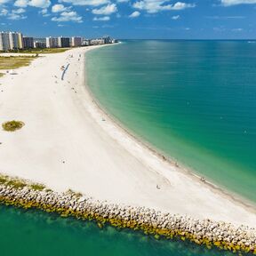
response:
{"label": "larger yellow-green grass patch on the sand below the high-rises", "polygon": [[35,58],[36,56],[0,56],[0,69],[14,69],[28,66],[31,60]]}

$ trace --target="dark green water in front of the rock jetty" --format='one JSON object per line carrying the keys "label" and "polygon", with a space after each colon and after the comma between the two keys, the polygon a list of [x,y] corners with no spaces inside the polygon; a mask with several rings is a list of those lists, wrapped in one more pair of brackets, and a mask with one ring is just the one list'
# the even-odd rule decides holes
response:
{"label": "dark green water in front of the rock jetty", "polygon": [[63,219],[0,204],[1,256],[219,256],[190,243],[156,240],[139,232],[100,229],[93,222]]}

